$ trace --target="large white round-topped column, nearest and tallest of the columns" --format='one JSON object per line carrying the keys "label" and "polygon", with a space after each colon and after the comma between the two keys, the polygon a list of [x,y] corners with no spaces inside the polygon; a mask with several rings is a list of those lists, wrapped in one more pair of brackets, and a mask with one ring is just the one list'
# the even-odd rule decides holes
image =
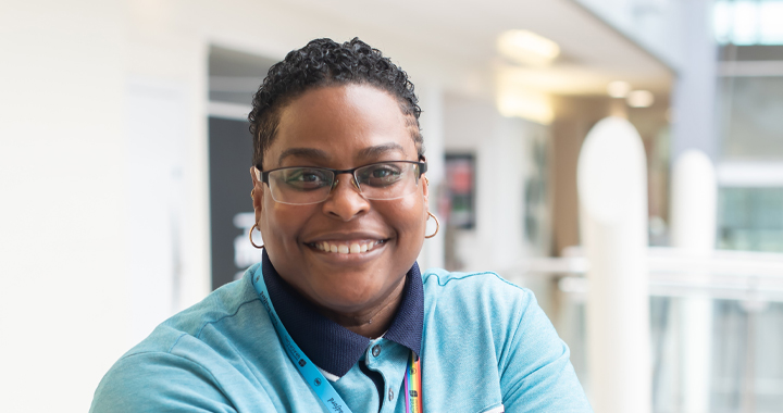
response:
{"label": "large white round-topped column, nearest and tallest of the columns", "polygon": [[649,413],[651,370],[647,173],[642,139],[620,117],[587,135],[577,165],[587,278],[588,393],[601,413]]}

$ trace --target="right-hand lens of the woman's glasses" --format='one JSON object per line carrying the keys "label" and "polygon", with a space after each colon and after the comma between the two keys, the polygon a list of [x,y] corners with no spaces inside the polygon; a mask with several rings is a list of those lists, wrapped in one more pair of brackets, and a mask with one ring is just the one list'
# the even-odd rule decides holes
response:
{"label": "right-hand lens of the woman's glasses", "polygon": [[413,193],[419,186],[419,165],[409,162],[374,163],[356,171],[366,199],[397,199]]}

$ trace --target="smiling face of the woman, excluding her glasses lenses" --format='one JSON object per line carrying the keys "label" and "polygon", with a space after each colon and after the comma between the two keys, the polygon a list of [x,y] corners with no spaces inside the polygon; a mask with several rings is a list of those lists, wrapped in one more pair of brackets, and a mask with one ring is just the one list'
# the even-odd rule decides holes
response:
{"label": "smiling face of the woman, excluding her glasses lenses", "polygon": [[[389,93],[347,85],[309,90],[285,107],[263,166],[348,170],[381,161],[418,161],[406,116]],[[288,284],[326,309],[359,313],[399,291],[424,241],[427,187],[422,178],[403,198],[368,200],[350,175],[337,179],[324,202],[291,205],[253,177],[256,218]],[[324,242],[338,252],[323,251]],[[353,245],[371,249],[340,252]]]}

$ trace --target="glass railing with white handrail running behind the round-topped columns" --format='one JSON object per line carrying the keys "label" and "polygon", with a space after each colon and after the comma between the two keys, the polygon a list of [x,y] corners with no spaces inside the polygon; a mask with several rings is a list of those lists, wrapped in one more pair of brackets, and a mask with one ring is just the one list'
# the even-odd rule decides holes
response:
{"label": "glass railing with white handrail running behind the round-topped columns", "polygon": [[[527,259],[508,268],[512,281],[536,292],[589,395],[585,302],[589,263]],[[648,255],[652,351],[652,412],[783,412],[783,254],[716,251],[694,256],[669,248]],[[686,318],[700,308],[705,328]],[[706,310],[705,310],[706,309]],[[693,318],[691,318],[693,322]],[[699,333],[703,331],[703,333]],[[706,365],[691,363],[688,354]],[[691,368],[691,371],[687,371]],[[694,371],[696,370],[696,371]],[[694,377],[701,383],[688,383]],[[694,390],[695,389],[695,390]]]}

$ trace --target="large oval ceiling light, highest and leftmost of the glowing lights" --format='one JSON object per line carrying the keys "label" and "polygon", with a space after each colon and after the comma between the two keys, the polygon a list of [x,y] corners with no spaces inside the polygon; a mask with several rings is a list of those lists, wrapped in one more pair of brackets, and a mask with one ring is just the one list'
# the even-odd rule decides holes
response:
{"label": "large oval ceiling light, highest and leftmost of the glowing lights", "polygon": [[504,32],[498,36],[497,49],[514,62],[532,65],[549,64],[560,54],[556,42],[527,30]]}

